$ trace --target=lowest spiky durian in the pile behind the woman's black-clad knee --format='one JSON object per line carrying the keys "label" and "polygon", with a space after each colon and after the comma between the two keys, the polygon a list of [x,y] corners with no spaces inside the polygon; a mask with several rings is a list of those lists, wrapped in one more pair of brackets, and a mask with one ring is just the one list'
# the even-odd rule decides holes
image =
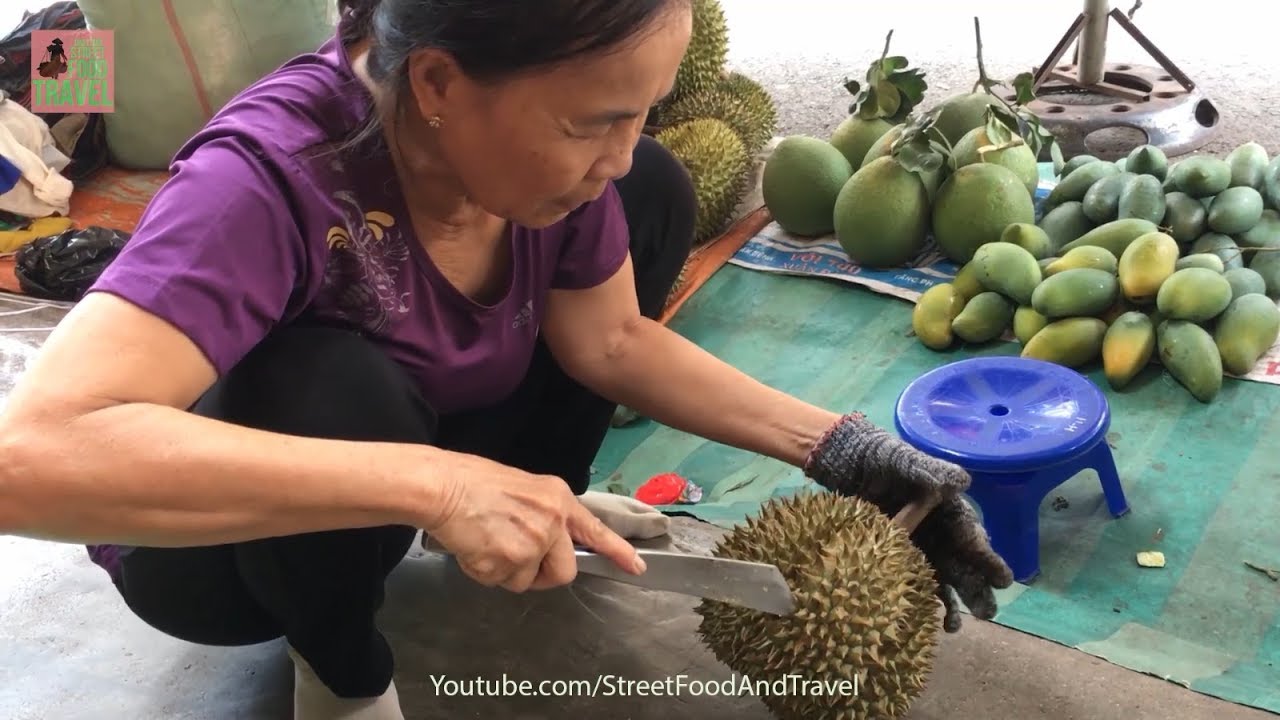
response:
{"label": "lowest spiky durian in the pile behind the woman's black-clad knee", "polygon": [[699,118],[663,128],[655,138],[689,170],[698,199],[694,243],[723,232],[746,191],[751,158],[727,123]]}

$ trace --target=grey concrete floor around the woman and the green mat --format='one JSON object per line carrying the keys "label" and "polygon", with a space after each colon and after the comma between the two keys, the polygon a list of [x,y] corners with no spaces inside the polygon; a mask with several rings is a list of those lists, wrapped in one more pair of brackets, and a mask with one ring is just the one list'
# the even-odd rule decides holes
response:
{"label": "grey concrete floor around the woman and the green mat", "polygon": [[[972,10],[957,9],[959,3],[723,3],[732,26],[731,63],[776,95],[783,133],[829,132],[847,104],[842,78],[865,70],[891,28],[896,28],[893,51],[929,72],[931,102],[966,90],[975,76]],[[1270,83],[1277,63],[1266,23],[1245,14],[1251,5],[1221,0],[1207,13],[1203,4],[1189,0],[1155,0],[1135,17],[1224,114],[1208,152],[1225,154],[1248,140],[1280,152],[1280,99]],[[6,4],[4,13],[14,9]],[[1078,9],[1075,0],[982,3],[988,69],[1011,77],[1041,61]],[[1190,18],[1194,32],[1185,29]],[[12,24],[8,17],[0,20]],[[1111,60],[1146,61],[1140,50],[1121,40],[1112,44]],[[40,329],[23,328],[47,328],[60,313],[0,299],[0,397],[44,337]],[[704,550],[713,536],[713,528],[677,521],[676,538],[684,547]],[[127,612],[79,547],[0,537],[0,719],[289,717],[291,674],[279,646],[210,650],[165,638]],[[602,673],[632,680],[730,676],[696,642],[689,598],[590,579],[572,591],[511,597],[480,591],[435,556],[406,562],[393,585],[385,628],[401,659],[408,717],[562,715],[545,700],[443,697],[431,679],[444,674],[490,680],[503,673],[529,680],[582,680]],[[525,629],[517,632],[517,621]],[[768,717],[753,698],[682,694],[556,702],[591,716]],[[943,638],[932,684],[911,717],[997,716],[1271,717],[970,620],[964,632]]]}

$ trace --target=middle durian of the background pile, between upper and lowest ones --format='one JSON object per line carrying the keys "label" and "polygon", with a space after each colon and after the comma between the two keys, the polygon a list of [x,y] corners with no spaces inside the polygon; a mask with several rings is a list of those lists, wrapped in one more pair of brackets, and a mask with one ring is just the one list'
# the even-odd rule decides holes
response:
{"label": "middle durian of the background pile, between upper and lowest ones", "polygon": [[778,127],[773,97],[742,73],[730,73],[704,92],[677,97],[662,109],[658,124],[669,127],[698,118],[728,123],[742,140],[748,155],[759,152]]}

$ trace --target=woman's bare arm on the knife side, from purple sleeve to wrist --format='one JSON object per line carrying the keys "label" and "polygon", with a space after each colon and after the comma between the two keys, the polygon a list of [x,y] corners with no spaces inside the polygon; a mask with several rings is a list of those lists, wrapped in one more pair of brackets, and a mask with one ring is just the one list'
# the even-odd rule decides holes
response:
{"label": "woman's bare arm on the knife side, from purple sleeve to wrist", "polygon": [[187,546],[330,528],[429,527],[456,502],[417,445],[342,442],[186,411],[215,380],[164,320],[92,293],[52,332],[0,414],[0,533]]}

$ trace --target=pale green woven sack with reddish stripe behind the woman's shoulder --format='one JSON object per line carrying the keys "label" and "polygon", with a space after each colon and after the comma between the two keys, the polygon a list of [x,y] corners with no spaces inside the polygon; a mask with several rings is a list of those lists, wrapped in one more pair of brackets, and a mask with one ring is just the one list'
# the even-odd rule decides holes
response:
{"label": "pale green woven sack with reddish stripe behind the woman's shoulder", "polygon": [[334,0],[79,0],[90,29],[111,29],[115,164],[161,170],[228,100],[333,36]]}

